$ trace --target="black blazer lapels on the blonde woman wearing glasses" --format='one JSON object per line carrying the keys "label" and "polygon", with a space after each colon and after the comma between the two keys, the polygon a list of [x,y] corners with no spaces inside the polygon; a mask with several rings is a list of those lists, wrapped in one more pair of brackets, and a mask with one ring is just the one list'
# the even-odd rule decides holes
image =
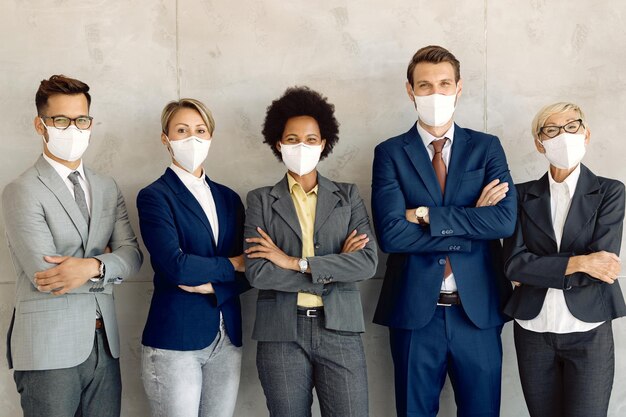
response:
{"label": "black blazer lapels on the blonde woman wearing glasses", "polygon": [[[550,207],[550,182],[548,173],[537,181],[533,181],[526,195],[521,196],[524,201],[521,207],[526,212],[530,221],[543,231],[552,241],[556,249],[556,238],[552,226],[552,215]],[[572,197],[567,219],[563,227],[561,238],[561,248],[559,252],[570,252],[572,244],[585,229],[587,223],[591,221],[598,207],[602,203],[602,193],[600,192],[600,182],[598,177],[581,164],[580,177],[576,184],[576,191]]]}

